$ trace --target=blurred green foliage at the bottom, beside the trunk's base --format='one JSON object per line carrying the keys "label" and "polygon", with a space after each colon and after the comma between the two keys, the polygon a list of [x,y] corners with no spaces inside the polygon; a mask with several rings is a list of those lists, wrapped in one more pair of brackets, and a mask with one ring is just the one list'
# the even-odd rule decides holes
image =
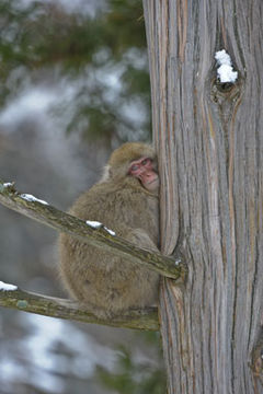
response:
{"label": "blurred green foliage at the bottom, beside the trunk's base", "polygon": [[119,348],[117,373],[98,367],[98,378],[107,390],[119,394],[164,394],[165,374],[160,366],[133,360],[132,352]]}

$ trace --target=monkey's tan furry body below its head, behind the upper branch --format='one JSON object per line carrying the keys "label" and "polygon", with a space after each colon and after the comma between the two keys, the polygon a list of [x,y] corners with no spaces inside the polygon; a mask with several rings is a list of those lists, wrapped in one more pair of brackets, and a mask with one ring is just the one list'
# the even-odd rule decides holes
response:
{"label": "monkey's tan furry body below its head, behind the upper branch", "polygon": [[[99,183],[69,212],[99,221],[138,246],[158,250],[159,200],[137,179],[125,185]],[[101,316],[150,305],[157,299],[157,274],[67,234],[60,236],[60,270],[71,294]]]}

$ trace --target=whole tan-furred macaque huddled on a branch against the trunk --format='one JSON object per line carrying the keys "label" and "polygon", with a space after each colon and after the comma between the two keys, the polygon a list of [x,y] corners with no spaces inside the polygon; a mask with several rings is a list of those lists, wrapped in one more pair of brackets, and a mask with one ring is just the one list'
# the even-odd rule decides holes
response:
{"label": "whole tan-furred macaque huddled on a branch against the trunk", "polygon": [[[99,221],[137,246],[158,251],[159,176],[153,149],[128,142],[116,149],[102,179],[83,193],[69,213]],[[99,317],[157,304],[159,275],[124,258],[60,235],[62,280]]]}

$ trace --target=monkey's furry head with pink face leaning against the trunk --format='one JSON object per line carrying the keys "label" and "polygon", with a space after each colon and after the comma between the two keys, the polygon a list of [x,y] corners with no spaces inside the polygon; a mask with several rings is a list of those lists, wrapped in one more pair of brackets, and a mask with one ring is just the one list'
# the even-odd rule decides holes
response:
{"label": "monkey's furry head with pink face leaning against the trunk", "polygon": [[136,178],[149,192],[159,188],[157,157],[151,146],[127,142],[116,149],[105,169],[104,179]]}

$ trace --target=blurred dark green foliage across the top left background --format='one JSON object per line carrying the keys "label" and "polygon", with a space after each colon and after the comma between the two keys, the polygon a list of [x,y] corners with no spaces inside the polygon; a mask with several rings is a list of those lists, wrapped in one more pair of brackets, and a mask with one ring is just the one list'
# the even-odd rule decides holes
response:
{"label": "blurred dark green foliage across the top left background", "polygon": [[[126,140],[137,139],[138,130],[140,139],[148,138],[150,86],[140,0],[108,0],[95,18],[69,13],[56,1],[22,8],[16,0],[2,0],[0,26],[0,104],[26,84],[56,76],[56,83],[78,85],[70,99],[58,97],[52,113],[71,114],[68,131]],[[117,83],[110,83],[113,76]],[[136,108],[145,114],[140,121]]]}

